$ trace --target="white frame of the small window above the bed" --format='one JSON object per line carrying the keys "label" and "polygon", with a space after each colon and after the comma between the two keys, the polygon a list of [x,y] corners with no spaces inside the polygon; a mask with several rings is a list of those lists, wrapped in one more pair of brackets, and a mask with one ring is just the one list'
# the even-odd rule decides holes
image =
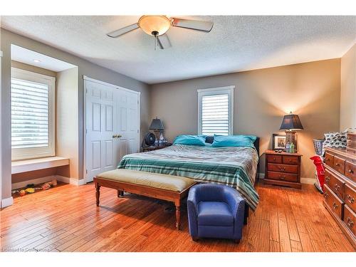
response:
{"label": "white frame of the small window above the bed", "polygon": [[206,95],[229,95],[229,133],[228,135],[234,134],[234,89],[235,85],[216,87],[216,88],[206,88],[198,89],[198,135],[202,132],[202,98]]}

